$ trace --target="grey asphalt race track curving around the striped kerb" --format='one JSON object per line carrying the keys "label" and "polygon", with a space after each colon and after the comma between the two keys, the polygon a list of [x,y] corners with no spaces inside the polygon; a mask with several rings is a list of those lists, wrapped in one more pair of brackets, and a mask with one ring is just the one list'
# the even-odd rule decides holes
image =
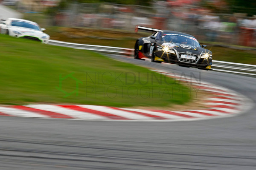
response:
{"label": "grey asphalt race track curving around the striped kerb", "polygon": [[1,170],[255,170],[256,79],[112,56],[201,76],[254,102],[244,114],[188,122],[0,116]]}

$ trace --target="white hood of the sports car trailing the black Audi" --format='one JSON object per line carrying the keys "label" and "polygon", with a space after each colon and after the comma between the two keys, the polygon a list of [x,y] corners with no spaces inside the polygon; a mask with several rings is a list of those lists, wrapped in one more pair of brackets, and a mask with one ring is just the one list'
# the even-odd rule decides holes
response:
{"label": "white hood of the sports car trailing the black Audi", "polygon": [[21,35],[19,35],[19,37],[29,36],[29,37],[38,37],[40,39],[43,36],[49,37],[48,34],[45,34],[42,31],[37,31],[37,30],[34,30],[34,29],[29,29],[29,28],[13,27],[12,30],[19,32],[21,34]]}

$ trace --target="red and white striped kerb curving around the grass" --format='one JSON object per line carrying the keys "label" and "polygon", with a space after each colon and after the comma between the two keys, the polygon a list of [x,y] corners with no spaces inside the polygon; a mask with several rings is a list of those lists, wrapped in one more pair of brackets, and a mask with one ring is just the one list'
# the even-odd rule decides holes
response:
{"label": "red and white striped kerb curving around the grass", "polygon": [[252,107],[245,96],[207,82],[180,77],[157,71],[180,82],[189,83],[193,88],[207,91],[209,96],[202,99],[205,109],[166,111],[156,109],[115,108],[96,105],[15,105],[0,106],[2,116],[22,116],[34,118],[58,118],[104,121],[192,121],[235,116]]}

